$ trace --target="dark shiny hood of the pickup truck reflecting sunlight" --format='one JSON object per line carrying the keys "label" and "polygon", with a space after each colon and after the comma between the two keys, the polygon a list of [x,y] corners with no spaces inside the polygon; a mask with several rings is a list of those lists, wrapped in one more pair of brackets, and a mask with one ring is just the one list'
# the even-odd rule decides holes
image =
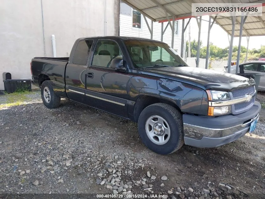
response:
{"label": "dark shiny hood of the pickup truck reflecting sunlight", "polygon": [[152,68],[150,70],[142,70],[141,73],[180,81],[198,86],[202,89],[231,91],[234,88],[247,87],[255,84],[253,79],[247,79],[239,75],[186,66]]}

